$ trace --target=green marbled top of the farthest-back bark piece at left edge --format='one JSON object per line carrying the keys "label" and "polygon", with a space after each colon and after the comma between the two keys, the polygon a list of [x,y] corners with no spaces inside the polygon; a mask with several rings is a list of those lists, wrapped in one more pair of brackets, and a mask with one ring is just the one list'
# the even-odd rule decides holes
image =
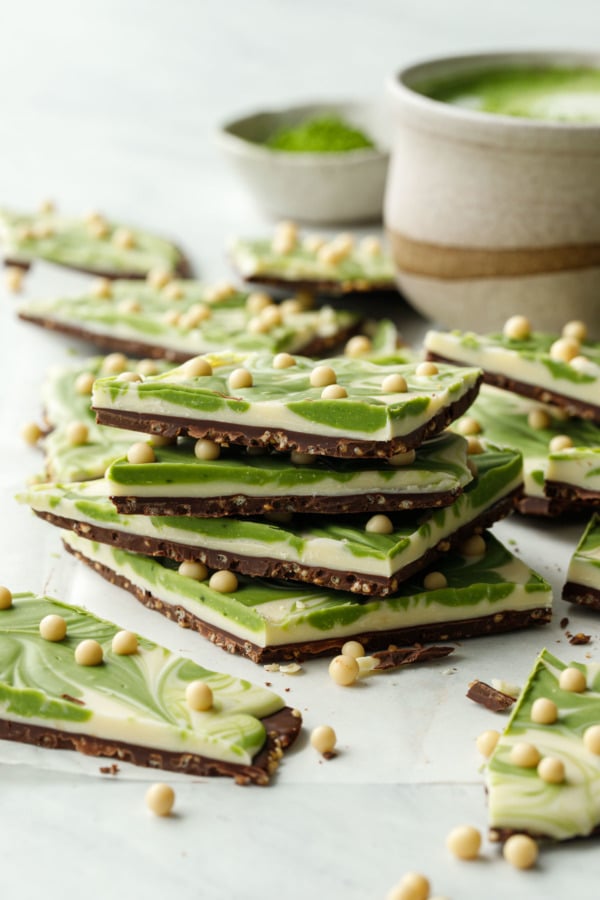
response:
{"label": "green marbled top of the farthest-back bark piece at left edge", "polygon": [[[104,220],[102,220],[104,221]],[[0,210],[0,240],[4,256],[30,262],[48,262],[89,269],[102,274],[146,275],[153,268],[177,271],[183,264],[181,251],[170,241],[147,231],[105,222],[106,234],[98,237],[84,219],[55,212],[16,213]],[[133,246],[118,244],[120,229],[133,237]]]}

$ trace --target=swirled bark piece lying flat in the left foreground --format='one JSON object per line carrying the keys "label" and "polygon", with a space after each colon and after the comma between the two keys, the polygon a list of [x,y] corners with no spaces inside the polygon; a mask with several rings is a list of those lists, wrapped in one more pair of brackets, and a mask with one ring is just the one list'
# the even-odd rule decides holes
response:
{"label": "swirled bark piece lying flat in the left foreground", "polygon": [[[62,641],[40,636],[39,623],[50,614],[66,620]],[[16,595],[0,613],[0,737],[267,784],[300,730],[300,714],[262,687],[211,672],[143,638],[137,652],[117,655],[117,632],[78,607]],[[101,644],[100,665],[75,661],[83,638]],[[186,702],[186,688],[196,680],[211,687],[208,711],[195,712]]]}

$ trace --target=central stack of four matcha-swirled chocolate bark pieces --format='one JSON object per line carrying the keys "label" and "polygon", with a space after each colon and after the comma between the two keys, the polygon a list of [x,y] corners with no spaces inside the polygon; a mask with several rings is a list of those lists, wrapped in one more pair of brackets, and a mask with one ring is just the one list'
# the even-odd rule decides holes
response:
{"label": "central stack of four matcha-swirled chocolate bark pieces", "polygon": [[521,490],[520,454],[468,458],[444,432],[479,381],[268,352],[100,378],[99,422],[149,444],[25,499],[104,577],[255,661],[543,623],[548,586],[481,537]]}

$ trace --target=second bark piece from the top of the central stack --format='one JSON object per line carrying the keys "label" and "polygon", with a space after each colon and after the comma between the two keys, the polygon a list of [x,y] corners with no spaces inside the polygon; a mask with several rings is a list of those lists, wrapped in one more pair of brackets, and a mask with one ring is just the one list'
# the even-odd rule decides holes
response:
{"label": "second bark piece from the top of the central stack", "polygon": [[184,439],[176,446],[155,448],[153,462],[116,460],[107,469],[106,480],[112,502],[126,514],[249,516],[431,509],[448,506],[472,480],[466,448],[464,438],[446,432],[422,444],[408,465],[318,456],[296,463],[287,454],[256,455],[232,448],[223,449],[216,459],[199,459],[194,442]]}

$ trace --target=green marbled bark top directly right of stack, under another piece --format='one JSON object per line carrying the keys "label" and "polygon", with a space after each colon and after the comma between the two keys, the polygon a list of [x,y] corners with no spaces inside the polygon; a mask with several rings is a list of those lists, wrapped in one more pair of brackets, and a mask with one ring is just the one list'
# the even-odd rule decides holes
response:
{"label": "green marbled bark top directly right of stack, under another piece", "polygon": [[[528,421],[534,410],[544,410],[550,416],[547,428],[532,428]],[[544,497],[544,482],[552,474],[555,461],[566,457],[573,472],[590,480],[587,465],[588,451],[600,446],[600,425],[584,419],[565,418],[551,406],[528,400],[508,391],[483,385],[475,403],[466,413],[481,425],[482,434],[488,440],[506,447],[515,447],[523,454],[525,494],[528,497]],[[460,427],[460,420],[456,427]],[[550,441],[559,434],[571,438],[577,450],[550,453]]]}

